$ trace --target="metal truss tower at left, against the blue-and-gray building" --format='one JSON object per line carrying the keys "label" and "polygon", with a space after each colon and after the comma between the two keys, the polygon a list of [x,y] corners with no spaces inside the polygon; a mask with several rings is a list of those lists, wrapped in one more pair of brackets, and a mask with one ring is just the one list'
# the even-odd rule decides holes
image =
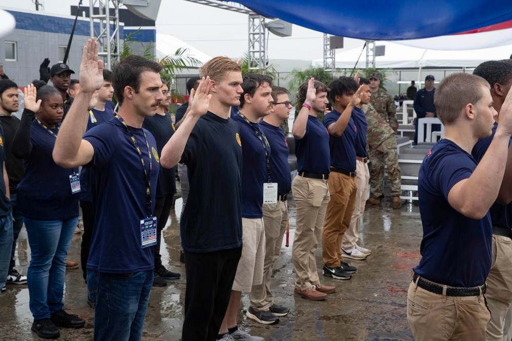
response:
{"label": "metal truss tower at left, against the blue-and-gray building", "polygon": [[[114,16],[109,7],[112,5]],[[99,8],[99,14],[93,14],[94,7]],[[119,61],[119,0],[90,0],[89,13],[91,17],[91,36],[98,42],[98,56],[103,59],[107,69],[112,69],[112,62]],[[94,27],[94,19],[99,20],[99,29]],[[112,26],[112,27],[111,27]]]}

